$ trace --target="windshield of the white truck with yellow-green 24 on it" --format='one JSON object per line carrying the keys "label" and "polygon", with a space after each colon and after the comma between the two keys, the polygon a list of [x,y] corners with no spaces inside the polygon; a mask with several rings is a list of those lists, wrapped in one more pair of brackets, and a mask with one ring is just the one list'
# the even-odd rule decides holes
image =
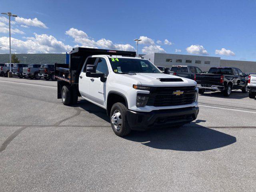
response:
{"label": "windshield of the white truck with yellow-green 24 on it", "polygon": [[115,73],[162,73],[154,64],[148,60],[109,58]]}

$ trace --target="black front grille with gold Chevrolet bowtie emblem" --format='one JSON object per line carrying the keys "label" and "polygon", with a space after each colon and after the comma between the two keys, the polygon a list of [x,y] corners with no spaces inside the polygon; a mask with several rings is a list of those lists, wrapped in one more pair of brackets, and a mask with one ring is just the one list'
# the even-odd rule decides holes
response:
{"label": "black front grille with gold Chevrolet bowtie emblem", "polygon": [[152,88],[147,105],[159,107],[191,104],[196,100],[195,88],[195,86]]}

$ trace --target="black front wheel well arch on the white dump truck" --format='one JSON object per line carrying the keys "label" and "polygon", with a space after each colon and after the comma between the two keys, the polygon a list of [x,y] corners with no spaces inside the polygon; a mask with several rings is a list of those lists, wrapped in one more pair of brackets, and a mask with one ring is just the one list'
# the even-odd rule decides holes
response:
{"label": "black front wheel well arch on the white dump truck", "polygon": [[124,94],[117,92],[117,91],[108,92],[108,97],[107,97],[107,115],[108,116],[110,116],[110,111],[111,111],[113,104],[115,104],[117,102],[124,103],[125,106],[128,108],[127,98]]}

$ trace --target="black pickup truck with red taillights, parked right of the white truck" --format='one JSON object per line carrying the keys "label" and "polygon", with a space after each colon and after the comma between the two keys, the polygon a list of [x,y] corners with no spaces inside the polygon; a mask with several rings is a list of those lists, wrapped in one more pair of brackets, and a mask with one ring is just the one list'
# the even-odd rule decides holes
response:
{"label": "black pickup truck with red taillights, parked right of the white truck", "polygon": [[199,93],[205,90],[222,91],[224,96],[230,96],[232,89],[241,89],[247,93],[248,77],[242,71],[234,67],[212,67],[207,74],[195,74]]}

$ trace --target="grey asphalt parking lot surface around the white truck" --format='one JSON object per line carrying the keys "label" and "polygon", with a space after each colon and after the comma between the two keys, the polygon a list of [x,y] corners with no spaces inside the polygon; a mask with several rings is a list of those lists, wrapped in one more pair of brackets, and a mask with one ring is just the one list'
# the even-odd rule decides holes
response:
{"label": "grey asphalt parking lot surface around the white truck", "polygon": [[179,129],[111,129],[85,100],[68,107],[56,81],[0,77],[0,191],[255,191],[256,100],[199,96]]}

